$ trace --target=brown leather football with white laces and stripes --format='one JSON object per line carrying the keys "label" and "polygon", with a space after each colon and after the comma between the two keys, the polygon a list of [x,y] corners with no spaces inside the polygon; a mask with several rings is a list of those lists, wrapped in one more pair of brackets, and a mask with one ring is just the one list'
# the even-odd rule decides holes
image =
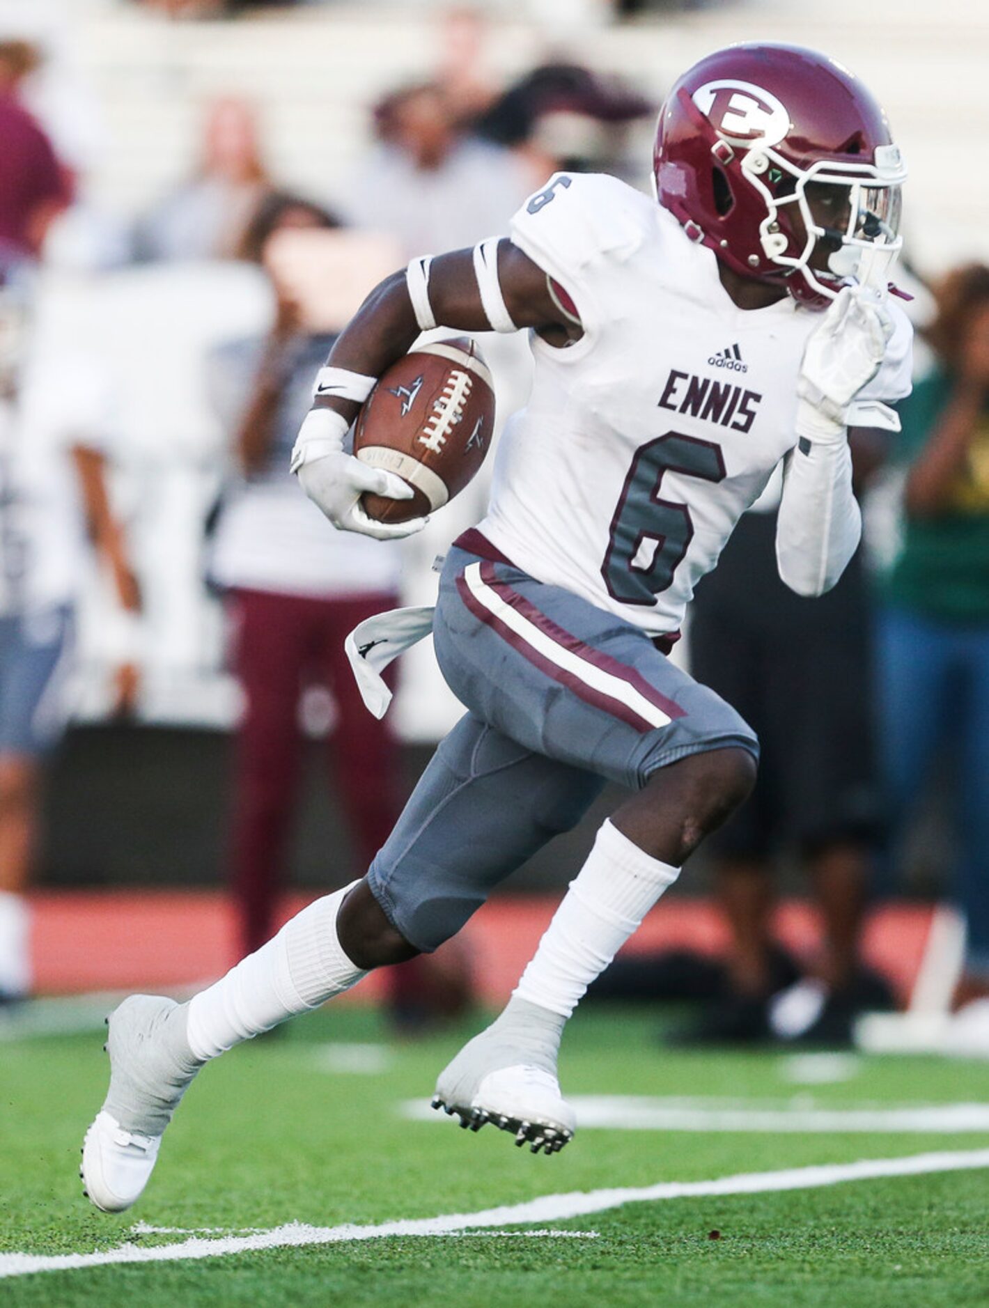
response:
{"label": "brown leather football with white laces and stripes", "polygon": [[407,522],[441,509],[476,475],[493,428],[491,371],[470,336],[429,341],[392,364],[357,417],[353,453],[396,472],[415,496],[365,494],[368,517]]}

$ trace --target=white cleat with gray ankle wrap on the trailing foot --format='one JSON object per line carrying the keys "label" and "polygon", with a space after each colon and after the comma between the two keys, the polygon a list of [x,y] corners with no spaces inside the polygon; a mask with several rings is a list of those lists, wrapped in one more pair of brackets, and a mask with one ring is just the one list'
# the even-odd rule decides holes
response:
{"label": "white cleat with gray ankle wrap on the trailing foot", "polygon": [[136,994],[109,1018],[110,1090],[82,1144],[82,1193],[123,1213],[154,1171],[171,1114],[201,1067],[186,1037],[186,1005]]}

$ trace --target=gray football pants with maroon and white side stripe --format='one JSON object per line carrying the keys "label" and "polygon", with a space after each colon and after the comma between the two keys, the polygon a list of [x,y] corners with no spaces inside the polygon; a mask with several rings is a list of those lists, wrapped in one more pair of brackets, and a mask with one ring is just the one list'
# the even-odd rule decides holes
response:
{"label": "gray football pants with maroon and white side stripe", "polygon": [[735,710],[638,628],[492,556],[453,548],[446,560],[436,655],[468,712],[368,874],[389,921],[423,951],[574,827],[606,780],[640,789],[692,753],[759,749]]}

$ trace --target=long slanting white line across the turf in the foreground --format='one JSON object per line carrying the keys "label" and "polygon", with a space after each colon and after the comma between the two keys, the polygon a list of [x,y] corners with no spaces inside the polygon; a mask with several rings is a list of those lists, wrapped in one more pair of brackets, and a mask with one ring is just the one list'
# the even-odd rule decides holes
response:
{"label": "long slanting white line across the turf in the foreground", "polygon": [[661,1181],[658,1185],[624,1186],[610,1190],[574,1190],[544,1194],[525,1203],[510,1203],[480,1213],[450,1213],[437,1218],[383,1222],[379,1226],[314,1227],[300,1222],[259,1231],[255,1235],[221,1236],[215,1240],[194,1236],[175,1244],[140,1248],[124,1244],[93,1253],[0,1253],[0,1277],[26,1277],[35,1271],[68,1271],[122,1262],[178,1262],[220,1258],[233,1253],[263,1249],[304,1248],[340,1244],[347,1240],[379,1240],[386,1236],[437,1236],[485,1233],[492,1228],[529,1223],[565,1222],[589,1213],[604,1213],[624,1203],[658,1199],[703,1198],[729,1194],[769,1194],[778,1190],[810,1190],[842,1181],[870,1181],[894,1176],[926,1176],[934,1172],[962,1172],[989,1168],[989,1148],[943,1154],[913,1154],[907,1158],[863,1159],[859,1163],[828,1163],[782,1172],[742,1172],[714,1181]]}

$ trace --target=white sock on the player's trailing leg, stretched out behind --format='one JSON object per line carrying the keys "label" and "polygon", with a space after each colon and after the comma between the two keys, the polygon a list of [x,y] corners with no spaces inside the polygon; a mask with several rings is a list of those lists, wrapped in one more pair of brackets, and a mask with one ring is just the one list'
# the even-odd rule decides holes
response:
{"label": "white sock on the player's trailing leg, stretched out behind", "polygon": [[347,957],[336,935],[336,914],[355,886],[304,908],[272,940],[192,997],[187,1035],[196,1058],[216,1058],[297,1012],[318,1008],[368,974]]}

